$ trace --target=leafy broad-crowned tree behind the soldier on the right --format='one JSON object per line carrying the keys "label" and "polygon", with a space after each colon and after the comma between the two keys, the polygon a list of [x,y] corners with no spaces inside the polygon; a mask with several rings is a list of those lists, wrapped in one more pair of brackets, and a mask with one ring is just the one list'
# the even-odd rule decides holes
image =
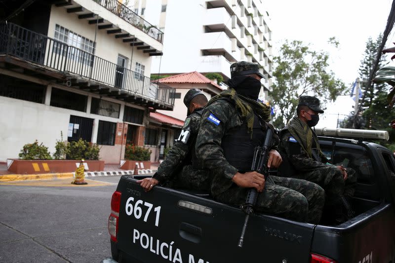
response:
{"label": "leafy broad-crowned tree behind the soldier on the right", "polygon": [[[329,42],[336,42],[334,38]],[[345,84],[328,70],[328,54],[311,50],[302,41],[285,41],[274,58],[276,81],[270,96],[276,108],[274,123],[284,125],[296,113],[299,96],[314,95],[322,105],[333,101],[345,90]]]}

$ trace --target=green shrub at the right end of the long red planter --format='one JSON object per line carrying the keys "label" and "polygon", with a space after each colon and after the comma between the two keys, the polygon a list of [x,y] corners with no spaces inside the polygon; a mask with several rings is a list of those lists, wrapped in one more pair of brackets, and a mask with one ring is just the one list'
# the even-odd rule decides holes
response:
{"label": "green shrub at the right end of the long red planter", "polygon": [[98,160],[100,148],[97,144],[89,143],[79,138],[67,144],[66,159],[68,160]]}

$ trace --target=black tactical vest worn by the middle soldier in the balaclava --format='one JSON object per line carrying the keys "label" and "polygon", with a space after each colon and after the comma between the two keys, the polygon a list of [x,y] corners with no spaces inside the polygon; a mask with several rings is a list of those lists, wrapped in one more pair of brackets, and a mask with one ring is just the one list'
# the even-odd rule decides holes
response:
{"label": "black tactical vest worn by the middle soldier in the balaclava", "polygon": [[226,160],[240,172],[251,171],[255,147],[262,146],[266,135],[266,123],[258,115],[254,116],[251,134],[247,123],[229,130],[222,138],[221,147]]}

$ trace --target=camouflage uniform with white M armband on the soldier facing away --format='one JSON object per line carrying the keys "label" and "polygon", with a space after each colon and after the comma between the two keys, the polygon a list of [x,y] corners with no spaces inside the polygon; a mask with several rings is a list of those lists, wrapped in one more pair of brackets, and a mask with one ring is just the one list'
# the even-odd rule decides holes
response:
{"label": "camouflage uniform with white M armband on the soldier facing away", "polygon": [[[192,100],[192,98],[189,99],[189,101]],[[195,157],[195,144],[202,112],[203,108],[196,109],[185,119],[180,136],[175,140],[174,145],[153,176],[159,184],[173,188],[209,189],[210,178],[208,173],[201,169],[198,161],[195,161],[194,167],[196,168],[192,165],[193,161],[197,159]]]}

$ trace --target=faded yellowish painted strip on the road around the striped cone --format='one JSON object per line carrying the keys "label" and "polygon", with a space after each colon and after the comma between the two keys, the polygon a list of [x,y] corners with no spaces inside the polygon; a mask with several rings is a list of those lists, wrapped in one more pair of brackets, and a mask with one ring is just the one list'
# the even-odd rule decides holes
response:
{"label": "faded yellowish painted strip on the road around the striped cone", "polygon": [[101,186],[111,186],[118,185],[114,183],[107,183],[102,181],[95,181],[85,179],[87,185],[74,185],[72,184],[73,180],[69,179],[55,179],[55,180],[40,180],[40,181],[19,181],[19,182],[6,182],[0,183],[0,185],[8,185],[8,186],[38,186],[38,187],[101,187]]}

